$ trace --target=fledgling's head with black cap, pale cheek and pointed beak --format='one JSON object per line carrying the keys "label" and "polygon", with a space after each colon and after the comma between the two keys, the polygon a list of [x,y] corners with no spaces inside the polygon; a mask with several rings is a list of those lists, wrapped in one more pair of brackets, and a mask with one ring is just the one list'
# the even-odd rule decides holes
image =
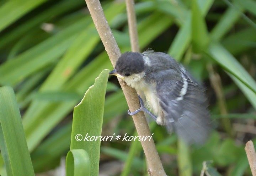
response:
{"label": "fledgling's head with black cap, pale cheek and pointed beak", "polygon": [[123,79],[128,85],[140,81],[145,75],[143,55],[137,52],[122,54],[109,74]]}

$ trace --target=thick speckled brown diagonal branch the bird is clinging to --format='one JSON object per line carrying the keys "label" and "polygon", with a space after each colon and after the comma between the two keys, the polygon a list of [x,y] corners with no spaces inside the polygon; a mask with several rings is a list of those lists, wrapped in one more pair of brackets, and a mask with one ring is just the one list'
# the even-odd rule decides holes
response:
{"label": "thick speckled brown diagonal branch the bird is clinging to", "polygon": [[[95,27],[100,35],[103,45],[107,51],[110,61],[113,66],[116,65],[116,61],[121,56],[120,50],[113,37],[110,26],[106,20],[104,12],[102,10],[99,0],[85,0],[87,7],[90,11],[92,20],[94,21]],[[135,89],[127,86],[124,82],[118,79],[121,88],[123,89],[124,96],[126,97],[127,104],[131,111],[135,111],[140,108],[138,95]],[[133,117],[134,125],[139,136],[151,136],[148,123],[146,121],[143,112],[135,114]],[[163,169],[160,157],[156,150],[154,140],[140,141],[148,161],[148,171],[152,176],[166,176]]]}

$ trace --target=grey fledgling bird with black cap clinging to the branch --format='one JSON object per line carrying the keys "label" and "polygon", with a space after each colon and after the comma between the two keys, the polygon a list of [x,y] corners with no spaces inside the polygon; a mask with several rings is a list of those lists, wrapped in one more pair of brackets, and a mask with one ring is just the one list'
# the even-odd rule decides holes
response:
{"label": "grey fledgling bird with black cap clinging to the branch", "polygon": [[[205,89],[171,56],[154,51],[126,52],[110,75],[144,92],[154,115],[146,112],[158,125],[165,125],[169,132],[174,130],[189,144],[206,141],[211,127]],[[142,99],[140,102],[143,106]]]}

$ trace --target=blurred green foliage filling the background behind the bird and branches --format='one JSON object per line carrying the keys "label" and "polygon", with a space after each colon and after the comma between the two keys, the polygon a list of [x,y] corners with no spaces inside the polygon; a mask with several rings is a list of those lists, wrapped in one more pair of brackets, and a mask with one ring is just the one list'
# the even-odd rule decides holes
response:
{"label": "blurred green foliage filling the background behind the bird and branches", "polygon": [[[124,1],[101,3],[122,53],[130,51]],[[199,175],[209,160],[222,175],[251,175],[244,144],[256,134],[256,1],[135,3],[141,49],[169,53],[204,83],[215,126],[204,146],[186,148],[150,124],[167,175]],[[112,65],[83,0],[0,4],[0,85],[15,90],[35,172],[60,175],[48,171],[69,151],[73,107]],[[127,109],[111,77],[103,136],[136,134]],[[143,154],[139,142],[101,142],[100,175],[146,175]]]}

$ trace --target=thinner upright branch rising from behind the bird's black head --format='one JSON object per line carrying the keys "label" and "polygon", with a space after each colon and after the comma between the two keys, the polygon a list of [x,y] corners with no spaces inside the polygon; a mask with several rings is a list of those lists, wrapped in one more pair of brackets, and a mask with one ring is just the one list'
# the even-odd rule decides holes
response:
{"label": "thinner upright branch rising from behind the bird's black head", "polygon": [[136,13],[134,9],[134,0],[126,0],[126,11],[129,26],[130,44],[133,52],[139,52],[139,39],[137,31]]}

